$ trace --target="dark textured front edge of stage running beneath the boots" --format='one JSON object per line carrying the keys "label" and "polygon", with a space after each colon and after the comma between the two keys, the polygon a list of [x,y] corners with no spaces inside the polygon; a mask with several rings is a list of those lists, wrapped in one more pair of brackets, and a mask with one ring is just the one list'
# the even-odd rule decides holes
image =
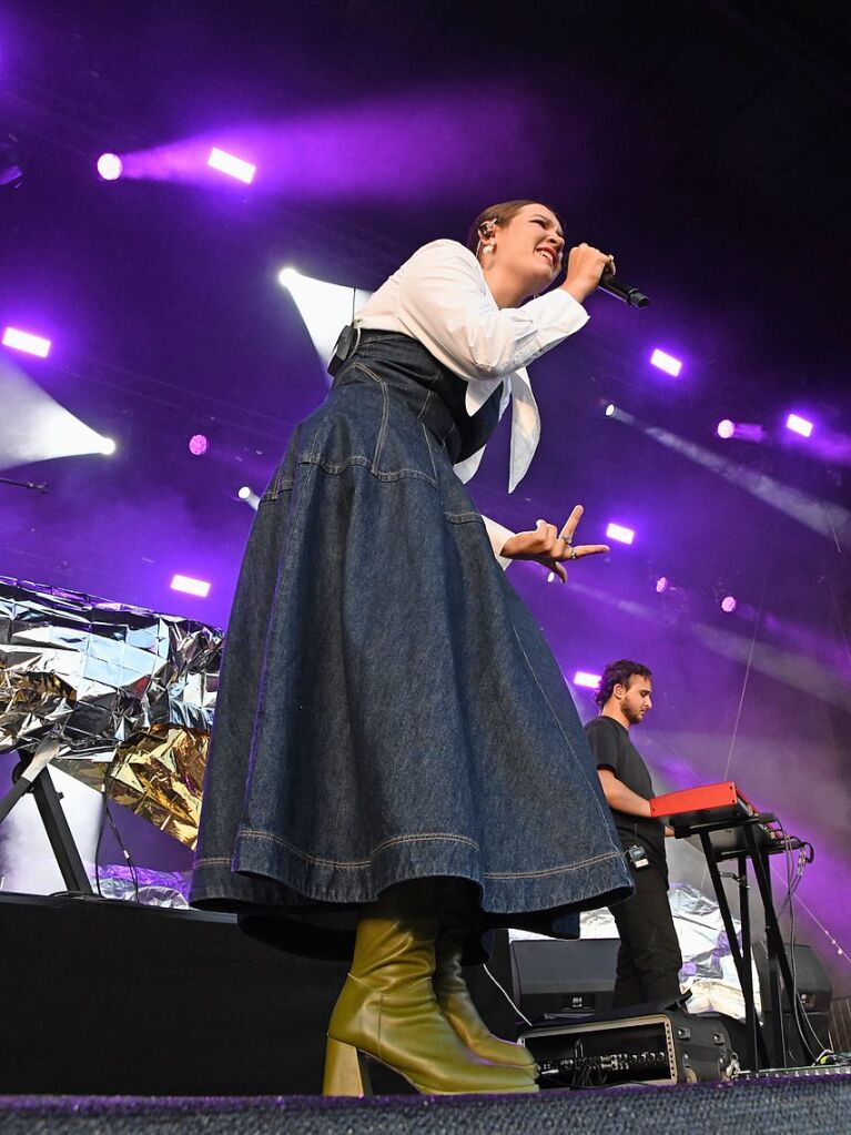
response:
{"label": "dark textured front edge of stage running beneath the boots", "polygon": [[67,1135],[297,1133],[297,1135],[840,1135],[851,1124],[851,1077],[688,1084],[671,1088],[546,1092],[534,1096],[377,1096],[354,1101],[259,1098],[112,1099],[7,1098],[0,1123],[18,1132]]}

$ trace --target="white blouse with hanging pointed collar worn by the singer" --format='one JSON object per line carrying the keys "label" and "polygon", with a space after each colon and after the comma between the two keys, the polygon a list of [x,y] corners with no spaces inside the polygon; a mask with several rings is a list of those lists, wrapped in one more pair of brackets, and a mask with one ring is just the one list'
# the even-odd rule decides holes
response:
{"label": "white blouse with hanging pointed collar worn by the singer", "polygon": [[[513,407],[508,471],[508,491],[513,493],[529,469],[541,432],[526,364],[583,327],[588,312],[564,288],[522,308],[500,310],[475,255],[457,241],[432,241],[373,293],[354,321],[364,330],[399,331],[422,343],[438,362],[466,379],[471,415],[502,386],[499,417],[509,401]],[[482,447],[455,465],[462,481],[470,480],[483,453]],[[498,552],[513,533],[492,521],[487,523]]]}

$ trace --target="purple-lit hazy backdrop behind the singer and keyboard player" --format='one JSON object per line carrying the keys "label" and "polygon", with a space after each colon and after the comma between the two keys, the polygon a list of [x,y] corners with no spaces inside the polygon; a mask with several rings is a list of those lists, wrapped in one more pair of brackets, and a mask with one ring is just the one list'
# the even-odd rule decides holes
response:
{"label": "purple-lit hazy backdrop behind the singer and keyboard player", "polygon": [[[589,543],[634,529],[566,588],[511,578],[568,679],[654,670],[637,742],[659,792],[735,780],[815,844],[795,930],[850,993],[850,40],[839,0],[10,0],[0,325],[52,348],[0,347],[0,472],[50,491],[0,485],[0,574],[225,625],[252,519],[237,489],[262,491],[327,389],[280,268],[369,291],[486,204],[551,202],[651,305],[589,301],[531,368],[530,474],[509,497],[504,423],[471,490],[517,529],[576,502]],[[199,168],[210,144],[248,154],[254,183]],[[135,176],[101,180],[104,151]],[[40,390],[115,454],[15,457]],[[761,442],[719,439],[721,419]],[[175,572],[209,597],[171,591]],[[136,861],[187,865],[121,823]],[[672,859],[706,885],[690,847]]]}

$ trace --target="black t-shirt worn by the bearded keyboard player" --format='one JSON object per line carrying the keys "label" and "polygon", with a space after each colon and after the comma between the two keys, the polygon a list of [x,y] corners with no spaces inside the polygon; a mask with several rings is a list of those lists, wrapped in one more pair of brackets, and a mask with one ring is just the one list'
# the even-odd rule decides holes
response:
{"label": "black t-shirt worn by the bearded keyboard player", "polygon": [[[625,726],[614,717],[595,717],[585,725],[585,734],[598,768],[610,768],[622,784],[644,800],[656,796],[647,765]],[[664,824],[649,816],[631,816],[617,808],[612,809],[612,818],[623,847],[639,843],[650,861],[667,877]]]}

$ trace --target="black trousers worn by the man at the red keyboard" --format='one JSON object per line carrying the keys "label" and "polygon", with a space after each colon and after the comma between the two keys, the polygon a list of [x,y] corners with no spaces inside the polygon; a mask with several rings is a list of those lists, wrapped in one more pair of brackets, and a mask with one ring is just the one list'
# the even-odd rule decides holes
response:
{"label": "black trousers worn by the man at the red keyboard", "polygon": [[655,865],[633,868],[635,893],[609,907],[621,935],[614,1006],[622,1009],[644,1001],[673,1001],[680,997],[683,964],[668,884]]}

